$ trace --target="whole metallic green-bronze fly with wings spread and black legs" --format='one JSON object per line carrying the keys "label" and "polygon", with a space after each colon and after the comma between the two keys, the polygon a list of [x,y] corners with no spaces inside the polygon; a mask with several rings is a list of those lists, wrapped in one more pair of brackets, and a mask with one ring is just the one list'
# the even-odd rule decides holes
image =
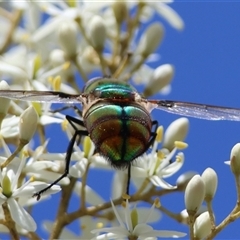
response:
{"label": "whole metallic green-bronze fly with wings spread and black legs", "polygon": [[[145,153],[156,137],[157,121],[150,113],[160,109],[179,115],[207,120],[240,121],[240,109],[210,106],[168,100],[147,100],[128,83],[112,78],[94,78],[87,82],[80,95],[54,91],[0,90],[0,97],[35,102],[82,104],[82,120],[66,116],[75,129],[68,145],[66,168],[63,175],[41,194],[67,176],[73,146],[77,136],[88,135],[95,144],[96,152],[112,167],[128,168],[127,194],[129,192],[131,163]],[[75,124],[85,130],[79,130]]]}

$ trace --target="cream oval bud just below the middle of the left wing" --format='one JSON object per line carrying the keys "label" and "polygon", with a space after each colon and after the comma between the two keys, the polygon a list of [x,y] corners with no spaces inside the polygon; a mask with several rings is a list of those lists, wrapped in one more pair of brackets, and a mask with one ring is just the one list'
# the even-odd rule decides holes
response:
{"label": "cream oval bud just below the middle of the left wing", "polygon": [[38,114],[33,106],[28,107],[20,116],[19,138],[21,143],[28,143],[33,137],[38,124]]}

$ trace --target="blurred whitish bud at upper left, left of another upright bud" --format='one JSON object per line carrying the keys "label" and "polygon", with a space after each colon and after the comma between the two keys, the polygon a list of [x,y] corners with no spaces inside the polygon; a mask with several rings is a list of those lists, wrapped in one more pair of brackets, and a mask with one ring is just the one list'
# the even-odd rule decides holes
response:
{"label": "blurred whitish bud at upper left, left of another upright bud", "polygon": [[63,22],[58,29],[60,45],[66,56],[74,57],[77,52],[77,26],[75,22]]}

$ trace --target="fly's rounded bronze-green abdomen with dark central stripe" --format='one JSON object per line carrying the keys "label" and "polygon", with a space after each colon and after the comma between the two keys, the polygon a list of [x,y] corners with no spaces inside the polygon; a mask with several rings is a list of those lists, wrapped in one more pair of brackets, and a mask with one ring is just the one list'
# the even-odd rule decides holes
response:
{"label": "fly's rounded bronze-green abdomen with dark central stripe", "polygon": [[149,146],[152,122],[141,106],[98,103],[86,113],[84,122],[97,152],[114,167],[127,167]]}

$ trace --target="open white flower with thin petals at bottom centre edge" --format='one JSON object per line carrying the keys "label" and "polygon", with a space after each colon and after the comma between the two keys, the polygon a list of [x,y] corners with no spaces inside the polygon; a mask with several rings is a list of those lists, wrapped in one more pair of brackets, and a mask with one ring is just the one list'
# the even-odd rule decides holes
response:
{"label": "open white flower with thin petals at bottom centre edge", "polygon": [[125,221],[122,220],[120,217],[116,207],[114,206],[113,202],[111,201],[112,208],[114,211],[114,214],[120,224],[118,227],[110,227],[110,228],[101,228],[101,229],[95,229],[91,232],[94,234],[99,234],[101,232],[105,232],[101,235],[98,235],[92,240],[98,240],[98,239],[122,239],[122,238],[128,238],[129,237],[138,237],[137,239],[157,239],[157,237],[184,237],[186,236],[185,233],[177,232],[177,231],[161,231],[161,230],[154,230],[150,225],[147,224],[148,219],[151,217],[151,214],[153,211],[155,211],[155,204],[152,205],[151,209],[149,209],[149,214],[146,216],[146,219],[144,222],[139,222],[138,220],[138,211],[136,208],[130,209],[128,200],[126,200],[126,207],[124,209]]}

